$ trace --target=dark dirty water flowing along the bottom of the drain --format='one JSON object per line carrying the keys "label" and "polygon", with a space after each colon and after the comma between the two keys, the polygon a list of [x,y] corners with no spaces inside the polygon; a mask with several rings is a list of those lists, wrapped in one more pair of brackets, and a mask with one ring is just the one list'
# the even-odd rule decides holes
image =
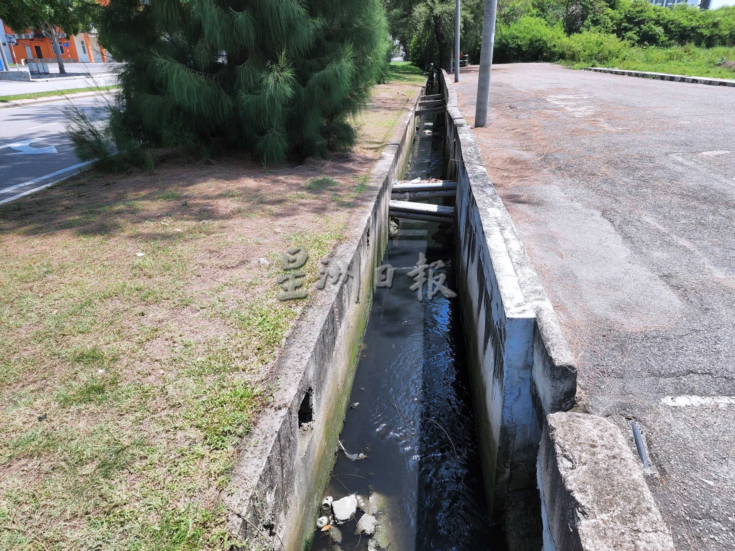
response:
{"label": "dark dirty water flowing along the bottom of the drain", "polygon": [[[442,176],[440,125],[427,119],[406,179]],[[340,450],[326,491],[334,500],[364,497],[377,531],[354,534],[364,514],[358,509],[335,525],[338,533],[318,528],[312,550],[502,547],[485,501],[458,299],[439,292],[429,300],[425,285],[418,300],[409,289],[420,253],[427,264],[441,260],[445,285],[456,289],[452,236],[451,228],[412,220],[392,233],[384,259],[395,267],[392,287],[376,289],[350,397],[359,406],[348,406],[340,434],[348,453],[368,458],[351,461]]]}

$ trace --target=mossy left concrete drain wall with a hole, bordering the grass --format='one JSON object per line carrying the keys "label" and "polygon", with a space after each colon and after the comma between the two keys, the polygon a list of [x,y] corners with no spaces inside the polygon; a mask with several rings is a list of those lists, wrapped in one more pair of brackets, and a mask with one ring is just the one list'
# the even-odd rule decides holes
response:
{"label": "mossy left concrete drain wall with a hole, bordering the grass", "polygon": [[[221,492],[229,530],[266,549],[301,551],[313,534],[370,314],[373,267],[387,245],[390,187],[409,154],[417,104],[418,96],[370,172],[373,208],[351,223],[348,239],[329,258],[357,267],[359,303],[348,278],[318,292],[304,309],[274,362],[270,407],[240,443],[232,480]],[[298,424],[304,400],[314,421],[306,428]]]}

